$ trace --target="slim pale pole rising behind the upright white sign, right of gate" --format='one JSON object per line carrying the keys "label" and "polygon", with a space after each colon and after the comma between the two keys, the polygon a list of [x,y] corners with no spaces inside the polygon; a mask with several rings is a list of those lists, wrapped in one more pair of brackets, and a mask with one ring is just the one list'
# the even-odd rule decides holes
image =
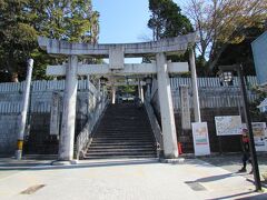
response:
{"label": "slim pale pole rising behind the upright white sign, right of gate", "polygon": [[199,97],[198,97],[197,72],[196,72],[194,49],[189,50],[189,62],[190,62],[190,70],[191,70],[191,83],[192,83],[192,99],[194,99],[195,122],[201,122]]}

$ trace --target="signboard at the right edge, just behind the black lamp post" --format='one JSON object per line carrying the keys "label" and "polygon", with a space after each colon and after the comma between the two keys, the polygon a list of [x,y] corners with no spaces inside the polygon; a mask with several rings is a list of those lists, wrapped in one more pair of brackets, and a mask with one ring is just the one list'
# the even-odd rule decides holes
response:
{"label": "signboard at the right edge, just behind the black lamp post", "polygon": [[[267,151],[267,132],[265,122],[253,122],[254,142],[256,151]],[[246,128],[243,123],[243,128]]]}

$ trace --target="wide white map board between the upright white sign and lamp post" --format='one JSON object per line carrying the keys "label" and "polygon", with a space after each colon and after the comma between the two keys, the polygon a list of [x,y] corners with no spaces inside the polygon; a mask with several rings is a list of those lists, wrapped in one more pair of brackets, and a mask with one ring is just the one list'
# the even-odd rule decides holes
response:
{"label": "wide white map board between the upright white sign and lamp post", "polygon": [[215,117],[215,126],[217,136],[241,134],[240,116],[217,116]]}

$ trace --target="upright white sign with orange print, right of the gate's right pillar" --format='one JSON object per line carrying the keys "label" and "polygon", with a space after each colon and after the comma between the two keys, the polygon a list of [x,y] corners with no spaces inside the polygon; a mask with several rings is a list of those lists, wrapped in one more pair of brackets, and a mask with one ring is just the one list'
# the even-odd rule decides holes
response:
{"label": "upright white sign with orange print, right of the gate's right pillar", "polygon": [[210,154],[207,122],[195,122],[191,124],[195,156]]}

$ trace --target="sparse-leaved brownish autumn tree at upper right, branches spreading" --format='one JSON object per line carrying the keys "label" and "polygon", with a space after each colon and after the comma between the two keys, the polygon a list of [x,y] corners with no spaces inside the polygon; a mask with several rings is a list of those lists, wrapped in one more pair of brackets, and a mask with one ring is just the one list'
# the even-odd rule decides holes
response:
{"label": "sparse-leaved brownish autumn tree at upper right, branches spreading", "polygon": [[230,43],[244,41],[245,29],[263,27],[267,0],[190,0],[186,10],[199,34],[199,58],[212,70]]}

